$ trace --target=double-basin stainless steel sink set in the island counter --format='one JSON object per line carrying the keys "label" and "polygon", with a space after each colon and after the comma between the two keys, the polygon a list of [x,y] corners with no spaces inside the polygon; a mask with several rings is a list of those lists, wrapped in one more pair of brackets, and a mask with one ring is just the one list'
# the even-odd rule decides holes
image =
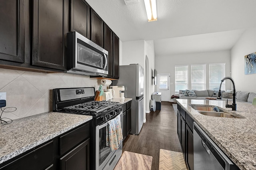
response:
{"label": "double-basin stainless steel sink set in the island counter", "polygon": [[219,112],[214,111],[213,107],[209,106],[191,106],[193,109],[198,111],[198,113],[206,116],[213,116],[213,117],[227,117],[227,118],[241,118],[236,115],[232,115],[230,113],[224,112],[220,109]]}

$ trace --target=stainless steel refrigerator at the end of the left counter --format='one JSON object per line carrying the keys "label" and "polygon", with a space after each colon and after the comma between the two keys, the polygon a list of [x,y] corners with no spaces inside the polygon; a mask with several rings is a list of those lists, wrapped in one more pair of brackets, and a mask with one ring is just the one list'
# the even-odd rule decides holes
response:
{"label": "stainless steel refrigerator at the end of the left counter", "polygon": [[139,134],[143,125],[144,72],[139,64],[120,65],[119,79],[113,85],[124,85],[124,97],[132,98],[131,134]]}

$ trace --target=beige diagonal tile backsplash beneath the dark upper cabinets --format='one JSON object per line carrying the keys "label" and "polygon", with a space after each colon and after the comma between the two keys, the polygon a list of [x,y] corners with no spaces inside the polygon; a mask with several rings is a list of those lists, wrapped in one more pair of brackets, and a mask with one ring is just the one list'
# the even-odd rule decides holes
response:
{"label": "beige diagonal tile backsplash beneath the dark upper cabinets", "polygon": [[[99,85],[98,79],[88,76],[0,68],[0,92],[6,92],[6,107],[17,108],[14,112],[3,113],[2,117],[18,119],[52,111],[52,89],[55,88],[95,87],[97,89]],[[11,109],[6,110],[11,111]]]}

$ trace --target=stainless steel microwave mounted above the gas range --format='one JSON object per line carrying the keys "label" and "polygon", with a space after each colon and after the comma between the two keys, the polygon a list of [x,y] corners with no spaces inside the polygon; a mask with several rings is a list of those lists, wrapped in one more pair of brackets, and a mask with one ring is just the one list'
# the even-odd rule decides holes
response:
{"label": "stainless steel microwave mounted above the gas range", "polygon": [[108,75],[108,51],[78,32],[67,34],[68,71],[82,75]]}

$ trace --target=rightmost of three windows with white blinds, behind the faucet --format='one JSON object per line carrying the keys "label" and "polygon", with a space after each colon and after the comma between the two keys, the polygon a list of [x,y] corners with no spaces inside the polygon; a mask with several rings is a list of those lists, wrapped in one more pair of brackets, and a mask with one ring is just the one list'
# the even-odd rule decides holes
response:
{"label": "rightmost of three windows with white blinds, behind the faucet", "polygon": [[[220,80],[225,77],[225,63],[209,64],[209,89],[218,90],[220,88]],[[225,90],[225,81],[221,86]]]}

